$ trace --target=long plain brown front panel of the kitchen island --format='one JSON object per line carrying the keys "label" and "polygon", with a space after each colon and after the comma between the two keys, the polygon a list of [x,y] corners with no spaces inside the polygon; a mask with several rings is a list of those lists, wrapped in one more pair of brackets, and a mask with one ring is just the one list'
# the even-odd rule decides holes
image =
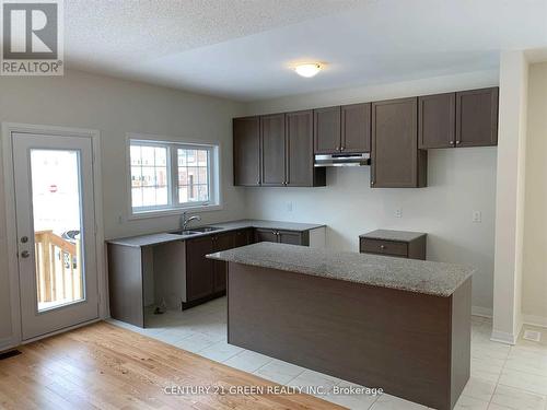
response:
{"label": "long plain brown front panel of the kitchen island", "polygon": [[435,409],[451,406],[451,297],[229,263],[228,341]]}

